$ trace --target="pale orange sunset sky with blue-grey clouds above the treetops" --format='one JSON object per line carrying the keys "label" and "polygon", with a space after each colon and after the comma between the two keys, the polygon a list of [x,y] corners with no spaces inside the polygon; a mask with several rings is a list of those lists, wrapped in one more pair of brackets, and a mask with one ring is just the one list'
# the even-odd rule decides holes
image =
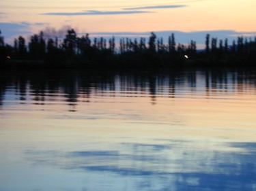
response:
{"label": "pale orange sunset sky with blue-grey clouds above the treetops", "polygon": [[0,30],[5,43],[18,35],[44,31],[63,36],[68,29],[90,37],[163,37],[171,33],[177,43],[197,41],[205,35],[229,39],[256,36],[255,0],[1,0]]}

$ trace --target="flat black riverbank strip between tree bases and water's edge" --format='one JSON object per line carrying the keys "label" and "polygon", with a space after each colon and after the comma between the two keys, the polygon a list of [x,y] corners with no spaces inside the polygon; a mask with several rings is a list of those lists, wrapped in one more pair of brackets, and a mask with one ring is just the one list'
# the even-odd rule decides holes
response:
{"label": "flat black riverbank strip between tree bases and water's edge", "polygon": [[237,67],[256,67],[255,61],[233,60],[227,62],[223,60],[216,60],[214,62],[205,60],[179,60],[177,63],[167,62],[140,62],[136,60],[126,61],[102,61],[96,63],[87,60],[61,60],[61,61],[46,61],[46,60],[5,60],[1,63],[1,69],[189,69],[189,68],[237,68]]}

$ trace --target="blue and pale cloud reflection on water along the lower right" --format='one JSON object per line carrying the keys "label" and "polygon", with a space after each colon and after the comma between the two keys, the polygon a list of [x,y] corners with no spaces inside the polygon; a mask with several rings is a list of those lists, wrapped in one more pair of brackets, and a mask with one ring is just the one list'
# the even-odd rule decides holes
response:
{"label": "blue and pale cloud reflection on water along the lower right", "polygon": [[[28,150],[26,155],[33,165],[105,173],[111,181],[117,175],[120,179],[139,177],[131,190],[255,190],[255,147],[256,143],[170,140],[164,145],[123,143],[118,150],[104,151]],[[117,190],[106,188],[111,189]]]}

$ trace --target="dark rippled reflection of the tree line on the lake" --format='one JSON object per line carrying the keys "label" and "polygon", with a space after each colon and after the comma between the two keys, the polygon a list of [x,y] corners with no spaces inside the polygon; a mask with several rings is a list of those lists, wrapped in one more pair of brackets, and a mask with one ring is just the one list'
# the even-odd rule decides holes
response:
{"label": "dark rippled reflection of the tree line on the lake", "polygon": [[8,86],[14,86],[20,103],[32,100],[39,105],[44,105],[44,101],[65,101],[75,105],[76,102],[89,102],[95,96],[150,97],[152,103],[156,103],[157,97],[189,96],[197,91],[202,91],[205,97],[214,97],[223,92],[246,92],[256,87],[253,71],[239,69],[159,72],[91,70],[61,71],[58,74],[55,71],[17,71],[2,73],[0,78],[0,105]]}

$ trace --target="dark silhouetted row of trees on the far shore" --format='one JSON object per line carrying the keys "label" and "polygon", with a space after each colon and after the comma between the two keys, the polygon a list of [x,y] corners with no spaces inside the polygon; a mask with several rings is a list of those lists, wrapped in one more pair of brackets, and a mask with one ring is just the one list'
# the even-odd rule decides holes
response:
{"label": "dark silhouetted row of trees on the far shore", "polygon": [[[117,48],[118,46],[118,48]],[[78,37],[73,29],[59,39],[32,35],[28,46],[25,38],[14,40],[14,46],[4,44],[0,33],[1,63],[20,67],[175,67],[193,65],[253,65],[256,59],[255,39],[238,37],[232,45],[228,40],[205,37],[205,50],[197,51],[195,41],[188,46],[176,44],[172,33],[168,43],[151,33],[148,40],[122,38],[119,45],[115,37],[91,40],[89,35]]]}

